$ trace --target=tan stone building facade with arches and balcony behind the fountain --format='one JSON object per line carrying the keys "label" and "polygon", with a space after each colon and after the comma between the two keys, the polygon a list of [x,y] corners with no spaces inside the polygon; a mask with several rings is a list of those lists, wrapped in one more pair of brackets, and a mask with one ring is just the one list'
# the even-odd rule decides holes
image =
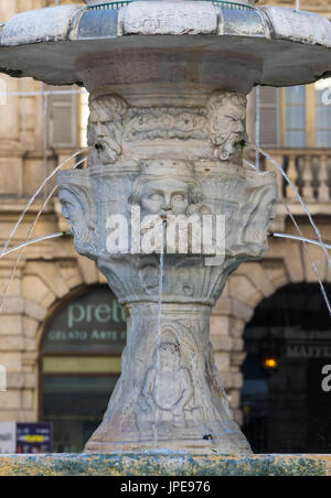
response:
{"label": "tan stone building facade with arches and balcony behind the fountain", "polygon": [[[73,2],[60,1],[64,3]],[[260,3],[295,7],[295,0]],[[7,21],[41,4],[51,7],[55,1],[0,0],[0,19]],[[331,19],[328,0],[301,0],[301,8]],[[87,96],[78,87],[60,89],[4,75],[0,85],[3,247],[38,186],[85,145]],[[67,93],[58,93],[63,89]],[[257,113],[260,130],[256,134]],[[254,91],[248,130],[250,140],[259,140],[285,167],[330,243],[331,79]],[[275,170],[263,156],[259,164],[263,170]],[[271,230],[298,235],[289,209],[303,236],[316,239],[293,192],[281,175],[278,178],[279,202]],[[24,242],[54,185],[49,182],[36,197],[11,246]],[[54,195],[30,237],[67,229]],[[244,263],[232,274],[213,311],[216,364],[235,418],[255,451],[331,451],[331,392],[321,387],[321,369],[331,365],[331,322],[318,275],[330,296],[331,270],[323,251],[310,246],[308,253],[297,241],[273,238],[261,261]],[[19,260],[18,252],[0,259],[0,294],[4,292],[0,365],[7,370],[7,392],[0,393],[0,422],[52,421],[55,450],[81,451],[120,372],[122,310],[94,262],[77,256],[70,237],[29,246]],[[271,361],[269,368],[267,359],[276,364]],[[319,444],[313,431],[317,423]]]}

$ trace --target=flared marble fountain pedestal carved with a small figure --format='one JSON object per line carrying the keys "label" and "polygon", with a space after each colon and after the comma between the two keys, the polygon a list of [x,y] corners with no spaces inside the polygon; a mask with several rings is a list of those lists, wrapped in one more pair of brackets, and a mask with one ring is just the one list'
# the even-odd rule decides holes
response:
{"label": "flared marble fountain pedestal carved with a small figure", "polygon": [[131,304],[124,375],[86,451],[249,452],[233,422],[209,339],[210,306]]}

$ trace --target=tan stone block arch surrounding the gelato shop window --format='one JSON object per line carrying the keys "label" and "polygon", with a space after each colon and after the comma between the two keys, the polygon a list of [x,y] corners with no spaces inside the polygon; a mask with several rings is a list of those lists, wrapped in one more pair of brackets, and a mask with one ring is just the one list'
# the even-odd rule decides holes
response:
{"label": "tan stone block arch surrounding the gelato shop window", "polygon": [[93,262],[71,257],[71,252],[70,245],[57,260],[49,246],[35,252],[39,259],[20,264],[4,301],[2,324],[8,334],[1,338],[0,351],[0,364],[7,370],[0,413],[3,421],[39,420],[38,359],[43,324],[58,302],[75,290],[105,283]]}

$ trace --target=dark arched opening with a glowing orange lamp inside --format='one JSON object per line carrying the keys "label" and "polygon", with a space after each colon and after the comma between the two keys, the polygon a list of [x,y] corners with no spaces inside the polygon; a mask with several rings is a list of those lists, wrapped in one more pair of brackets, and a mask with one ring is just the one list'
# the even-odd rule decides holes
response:
{"label": "dark arched opening with a glowing orange lamp inside", "polygon": [[331,453],[331,318],[319,285],[264,300],[244,338],[243,430],[253,451]]}

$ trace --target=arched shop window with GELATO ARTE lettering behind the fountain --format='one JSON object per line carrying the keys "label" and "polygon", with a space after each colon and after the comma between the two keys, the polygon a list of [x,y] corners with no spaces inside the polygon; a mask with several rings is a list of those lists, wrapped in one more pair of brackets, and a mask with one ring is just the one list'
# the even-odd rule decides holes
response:
{"label": "arched shop window with GELATO ARTE lettering behind the fountain", "polygon": [[40,355],[40,419],[54,452],[81,452],[99,425],[120,375],[126,316],[108,286],[85,289],[46,323]]}

